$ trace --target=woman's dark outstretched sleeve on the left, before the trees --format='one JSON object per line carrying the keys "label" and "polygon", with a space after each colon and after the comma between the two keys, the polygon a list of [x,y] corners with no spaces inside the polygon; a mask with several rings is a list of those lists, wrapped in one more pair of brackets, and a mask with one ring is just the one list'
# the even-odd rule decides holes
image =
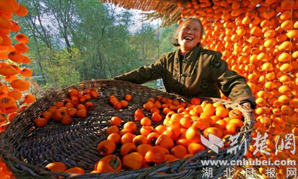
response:
{"label": "woman's dark outstretched sleeve on the left, before the trees", "polygon": [[152,80],[162,78],[164,66],[164,57],[161,57],[156,62],[149,66],[142,66],[139,69],[135,69],[131,72],[123,75],[116,76],[112,80],[128,81],[134,84],[144,84]]}

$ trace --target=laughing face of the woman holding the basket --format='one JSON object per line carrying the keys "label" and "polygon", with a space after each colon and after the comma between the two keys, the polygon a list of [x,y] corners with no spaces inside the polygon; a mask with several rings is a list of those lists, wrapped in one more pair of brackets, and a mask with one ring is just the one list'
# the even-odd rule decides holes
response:
{"label": "laughing face of the woman holding the basket", "polygon": [[201,41],[201,25],[196,20],[188,20],[182,26],[178,34],[180,49],[187,52]]}

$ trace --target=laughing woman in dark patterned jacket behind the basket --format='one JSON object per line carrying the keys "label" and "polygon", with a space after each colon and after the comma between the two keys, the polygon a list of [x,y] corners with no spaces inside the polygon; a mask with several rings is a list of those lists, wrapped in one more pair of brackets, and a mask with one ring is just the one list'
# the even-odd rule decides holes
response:
{"label": "laughing woman in dark patterned jacket behind the basket", "polygon": [[222,53],[204,49],[204,28],[198,18],[186,19],[174,33],[173,45],[178,49],[164,54],[149,66],[142,66],[114,80],[143,84],[162,78],[167,92],[184,96],[220,98],[220,90],[232,101],[252,111],[255,98],[246,79],[228,69]]}

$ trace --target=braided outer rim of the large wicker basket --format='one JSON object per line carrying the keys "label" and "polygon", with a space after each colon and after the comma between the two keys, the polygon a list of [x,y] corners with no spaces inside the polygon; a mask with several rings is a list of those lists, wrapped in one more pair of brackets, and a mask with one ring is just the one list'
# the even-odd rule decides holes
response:
{"label": "braided outer rim of the large wicker basket", "polygon": [[[55,90],[55,91],[47,94],[46,96],[55,95],[55,94],[58,93],[58,91],[68,92],[69,89],[78,89],[79,87],[85,86],[85,85],[89,85],[89,87],[95,87],[95,84],[97,84],[97,83],[106,84],[106,83],[110,83],[110,82],[114,82],[114,81],[115,80],[89,80],[89,81],[84,81],[79,86],[72,85],[72,86],[69,86],[67,88],[57,89],[57,90]],[[125,83],[131,84],[130,82],[125,82]],[[144,88],[148,88],[148,87],[144,87]],[[148,90],[158,91],[156,89],[150,89],[150,88],[148,88]],[[160,91],[160,92],[162,92],[162,91]],[[180,95],[171,94],[171,93],[165,93],[165,94],[168,95],[168,96],[172,96],[172,97],[179,96],[179,97],[186,98],[186,99],[190,98],[188,96],[180,96]],[[36,102],[43,100],[46,96],[43,96],[40,99],[37,99]],[[214,98],[214,97],[202,97],[202,96],[197,96],[197,97],[199,97],[200,99],[205,99],[205,100],[227,101],[227,100],[224,100],[224,99],[219,99],[219,98]],[[243,116],[244,116],[244,123],[245,123],[245,125],[243,125],[243,127],[241,128],[241,132],[240,133],[243,134],[244,132],[249,132],[249,131],[252,132],[252,130],[253,130],[253,124],[254,124],[254,118],[253,118],[251,112],[248,111],[245,107],[242,107],[240,104],[238,104],[236,102],[232,102],[232,101],[228,101],[228,102],[234,104],[235,106],[237,106],[237,108],[241,109],[241,111],[244,111],[244,113],[243,112],[242,113],[243,113]],[[0,133],[0,142],[3,142],[4,137],[7,136],[8,131],[15,130],[14,127],[17,124],[17,121],[20,120],[21,119],[21,116],[25,115],[26,112],[30,111],[30,109],[33,108],[32,106],[33,106],[33,104],[30,105],[25,110],[21,111],[20,115],[18,115],[12,121],[12,123],[10,123],[10,125],[8,125],[6,131]],[[245,126],[246,126],[247,130],[245,130]],[[241,141],[242,140],[245,140],[245,136],[244,135],[242,136]],[[228,149],[228,148],[226,148],[226,149]],[[171,167],[174,167],[174,166],[176,166],[178,164],[181,164],[181,163],[187,164],[189,161],[194,160],[194,159],[198,158],[199,156],[201,156],[203,154],[206,154],[207,151],[209,151],[209,150],[210,149],[207,148],[203,152],[200,152],[198,154],[195,154],[194,156],[189,157],[189,158],[186,158],[186,159],[180,159],[178,161],[172,162],[168,166],[165,166],[164,165],[165,163],[161,163],[159,165],[156,165],[156,166],[153,166],[153,167],[150,167],[150,168],[134,170],[133,172],[134,173],[148,174],[148,171],[151,171],[151,170],[153,170],[154,172],[156,172],[156,171],[159,171],[158,169],[161,170],[163,168],[171,168]],[[18,172],[20,170],[26,171],[27,173],[30,173],[32,175],[32,177],[49,176],[51,178],[52,175],[60,175],[60,176],[63,176],[63,177],[70,177],[71,176],[71,177],[74,177],[74,178],[80,178],[80,177],[84,177],[84,178],[85,177],[105,177],[105,176],[108,177],[108,178],[110,178],[110,177],[114,177],[114,176],[120,177],[122,175],[125,175],[126,173],[132,173],[132,171],[123,171],[120,174],[117,174],[117,173],[87,174],[86,173],[86,174],[83,174],[83,175],[80,175],[80,176],[69,175],[69,174],[66,174],[66,173],[49,172],[49,171],[46,171],[43,168],[38,168],[38,167],[36,167],[34,165],[31,165],[29,163],[23,162],[20,159],[18,159],[15,156],[13,156],[11,153],[9,153],[9,151],[7,151],[5,149],[5,146],[1,146],[1,145],[0,145],[0,155],[1,155],[2,159],[4,159],[3,161],[6,163],[7,167],[11,171],[18,171]],[[244,154],[242,154],[242,156],[243,155]],[[11,162],[11,161],[13,161],[13,162]],[[20,169],[17,169],[17,167],[19,167]],[[189,169],[189,170],[192,170],[192,169]],[[141,176],[142,176],[142,174],[141,174]],[[154,176],[156,176],[156,174]],[[163,176],[165,177],[166,175],[163,175]],[[115,178],[117,178],[117,177],[115,177]]]}

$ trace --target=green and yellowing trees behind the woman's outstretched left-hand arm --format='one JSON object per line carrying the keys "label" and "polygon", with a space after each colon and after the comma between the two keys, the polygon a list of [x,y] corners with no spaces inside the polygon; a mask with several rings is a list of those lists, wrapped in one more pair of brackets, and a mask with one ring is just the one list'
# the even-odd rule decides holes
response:
{"label": "green and yellowing trees behind the woman's outstretched left-hand arm", "polygon": [[[20,17],[21,33],[30,37],[26,54],[44,88],[64,88],[80,81],[110,79],[149,65],[175,48],[176,25],[157,29],[135,24],[131,11],[98,0],[20,0],[29,15]],[[158,45],[157,45],[158,44]],[[154,82],[147,84],[157,88]]]}

